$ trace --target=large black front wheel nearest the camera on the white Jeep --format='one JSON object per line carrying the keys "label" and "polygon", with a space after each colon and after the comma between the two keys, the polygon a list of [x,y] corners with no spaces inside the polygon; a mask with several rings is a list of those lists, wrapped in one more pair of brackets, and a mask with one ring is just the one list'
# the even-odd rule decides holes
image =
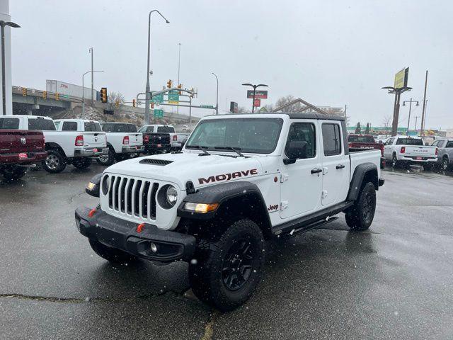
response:
{"label": "large black front wheel nearest the camera on the white Jeep", "polygon": [[202,301],[228,311],[253,294],[264,263],[263,234],[251,220],[231,225],[217,241],[197,247],[189,265],[193,293]]}

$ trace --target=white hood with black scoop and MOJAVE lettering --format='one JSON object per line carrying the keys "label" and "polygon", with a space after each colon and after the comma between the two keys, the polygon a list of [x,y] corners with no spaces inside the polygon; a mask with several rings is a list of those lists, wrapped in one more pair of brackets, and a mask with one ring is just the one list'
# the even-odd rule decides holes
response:
{"label": "white hood with black scoop and MOJAVE lettering", "polygon": [[226,157],[221,154],[200,156],[197,152],[156,154],[116,163],[105,172],[176,183],[181,190],[185,190],[187,181],[192,181],[195,188],[200,188],[259,176],[263,174],[263,166],[258,158],[261,157]]}

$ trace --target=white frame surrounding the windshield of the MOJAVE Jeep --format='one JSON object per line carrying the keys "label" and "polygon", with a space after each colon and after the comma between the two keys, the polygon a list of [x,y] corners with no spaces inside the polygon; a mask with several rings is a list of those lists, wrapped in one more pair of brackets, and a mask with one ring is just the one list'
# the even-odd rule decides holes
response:
{"label": "white frame surrounding the windshield of the MOJAVE Jeep", "polygon": [[[275,150],[277,149],[278,147],[278,144],[280,142],[280,137],[282,135],[282,128],[283,128],[283,125],[285,124],[285,120],[283,120],[282,118],[280,117],[263,117],[263,116],[258,116],[258,117],[244,117],[244,118],[239,118],[239,117],[234,117],[234,118],[214,118],[214,119],[204,119],[204,120],[200,120],[200,123],[197,124],[197,126],[193,129],[193,132],[190,133],[190,137],[188,138],[187,142],[185,143],[184,145],[184,149],[187,149],[188,151],[198,151],[200,152],[200,148],[197,147],[197,146],[190,146],[190,142],[192,142],[192,139],[195,137],[196,135],[196,132],[197,132],[197,129],[200,128],[200,126],[206,124],[206,123],[210,123],[210,122],[213,122],[213,121],[219,121],[219,120],[240,120],[240,121],[244,121],[244,120],[276,120],[278,123],[279,123],[279,127],[278,127],[278,131],[277,131],[277,136],[275,137],[275,143],[272,147],[272,149],[270,150],[248,150],[248,149],[241,149],[241,147],[236,147],[236,146],[233,146],[235,149],[239,150],[241,153],[243,154],[272,154],[273,152],[275,152]],[[224,149],[224,148],[219,148],[217,145],[200,145],[201,147],[203,147],[205,150],[207,151],[210,151],[210,152],[230,152],[230,153],[235,153],[236,152],[233,150],[233,149]],[[231,147],[231,145],[225,145],[225,147]]]}

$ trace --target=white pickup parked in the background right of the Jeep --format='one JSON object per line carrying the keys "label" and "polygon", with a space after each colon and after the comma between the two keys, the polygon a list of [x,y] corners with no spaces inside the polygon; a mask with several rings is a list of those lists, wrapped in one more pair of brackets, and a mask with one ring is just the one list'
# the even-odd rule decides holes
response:
{"label": "white pickup parked in the background right of the Jeep", "polygon": [[437,147],[423,145],[421,137],[394,136],[384,144],[384,159],[393,167],[419,164],[430,168],[437,162]]}

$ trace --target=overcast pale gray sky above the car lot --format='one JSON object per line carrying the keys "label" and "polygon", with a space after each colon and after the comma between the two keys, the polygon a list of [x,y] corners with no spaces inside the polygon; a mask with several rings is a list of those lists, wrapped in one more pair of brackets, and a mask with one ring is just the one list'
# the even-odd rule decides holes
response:
{"label": "overcast pale gray sky above the car lot", "polygon": [[[348,104],[352,123],[382,125],[394,97],[380,88],[410,67],[413,90],[402,98],[422,101],[428,69],[427,126],[453,128],[452,1],[10,0],[22,26],[12,36],[13,85],[81,84],[93,46],[95,69],[105,70],[95,75],[96,89],[107,86],[131,101],[144,91],[147,13],[155,8],[171,23],[153,16],[151,89],[177,79],[180,42],[180,79],[198,88],[194,103],[215,105],[215,72],[221,111],[229,101],[251,106],[243,82],[264,83],[263,105],[292,94],[318,105]],[[421,112],[421,105],[413,109]],[[400,126],[407,116],[408,106],[401,107]]]}

